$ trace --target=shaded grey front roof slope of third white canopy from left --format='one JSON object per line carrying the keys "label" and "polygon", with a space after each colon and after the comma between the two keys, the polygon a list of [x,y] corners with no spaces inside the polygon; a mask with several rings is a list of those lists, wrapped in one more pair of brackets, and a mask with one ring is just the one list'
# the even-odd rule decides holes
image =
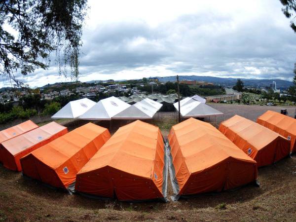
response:
{"label": "shaded grey front roof slope of third white canopy from left", "polygon": [[112,119],[151,119],[152,117],[153,115],[148,115],[144,111],[137,108],[134,104],[114,115]]}

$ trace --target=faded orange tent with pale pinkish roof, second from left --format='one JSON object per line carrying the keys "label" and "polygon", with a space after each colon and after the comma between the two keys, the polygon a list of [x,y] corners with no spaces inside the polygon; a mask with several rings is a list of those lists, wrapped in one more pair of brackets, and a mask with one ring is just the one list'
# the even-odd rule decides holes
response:
{"label": "faded orange tent with pale pinkish roof, second from left", "polygon": [[20,158],[67,132],[67,127],[51,122],[1,143],[1,158],[4,167],[21,171]]}

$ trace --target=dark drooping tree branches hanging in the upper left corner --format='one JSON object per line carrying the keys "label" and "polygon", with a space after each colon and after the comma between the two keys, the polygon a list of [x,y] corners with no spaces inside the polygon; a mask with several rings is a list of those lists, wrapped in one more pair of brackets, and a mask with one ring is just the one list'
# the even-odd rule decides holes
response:
{"label": "dark drooping tree branches hanging in the upper left corner", "polygon": [[60,74],[69,65],[77,77],[86,8],[87,0],[1,0],[0,75],[19,86],[18,74],[48,68],[55,51]]}

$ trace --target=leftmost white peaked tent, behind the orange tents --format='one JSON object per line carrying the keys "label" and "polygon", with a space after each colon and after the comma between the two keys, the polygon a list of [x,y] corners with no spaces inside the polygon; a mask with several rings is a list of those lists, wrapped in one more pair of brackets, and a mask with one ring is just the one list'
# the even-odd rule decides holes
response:
{"label": "leftmost white peaked tent, behind the orange tents", "polygon": [[79,115],[82,115],[89,109],[91,109],[96,102],[84,98],[80,100],[74,100],[67,103],[61,110],[51,116],[52,119],[66,119],[66,118],[77,118]]}

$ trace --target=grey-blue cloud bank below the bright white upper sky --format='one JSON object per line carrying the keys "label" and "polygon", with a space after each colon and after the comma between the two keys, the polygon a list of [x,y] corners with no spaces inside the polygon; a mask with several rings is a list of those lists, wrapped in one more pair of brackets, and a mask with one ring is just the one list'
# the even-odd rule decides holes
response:
{"label": "grey-blue cloud bank below the bright white upper sky", "polygon": [[[116,76],[123,70],[164,67],[168,74],[291,80],[296,35],[280,15],[237,21],[209,11],[183,15],[156,27],[142,20],[101,24],[83,33],[80,77],[98,79],[96,74]],[[279,25],[278,19],[287,23]],[[41,84],[44,80],[40,79],[50,82],[59,77],[54,65],[35,73],[28,82]],[[129,76],[117,74],[117,78]]]}

